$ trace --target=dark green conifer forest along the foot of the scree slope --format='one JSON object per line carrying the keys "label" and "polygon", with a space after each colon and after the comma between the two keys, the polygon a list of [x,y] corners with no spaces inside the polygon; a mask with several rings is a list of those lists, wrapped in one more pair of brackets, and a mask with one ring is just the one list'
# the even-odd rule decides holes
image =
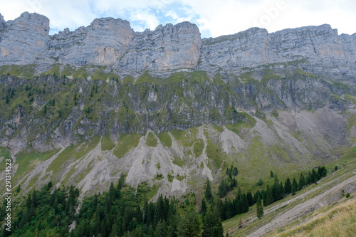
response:
{"label": "dark green conifer forest along the foot of the scree slope", "polygon": [[[234,169],[231,170],[232,177]],[[251,191],[243,193],[238,187],[235,198],[226,197],[224,201],[218,194],[213,195],[207,179],[199,214],[194,209],[179,207],[179,199],[162,195],[155,202],[149,202],[145,197],[141,199],[131,189],[124,188],[124,177],[120,177],[116,185],[111,183],[103,194],[85,197],[79,213],[75,214],[79,190],[73,186],[58,189],[49,182],[41,190],[31,191],[16,208],[11,236],[224,237],[221,221],[246,213],[253,204],[257,203],[262,208],[262,203],[268,206],[286,194],[295,194],[326,174],[325,167],[319,167],[306,177],[300,174],[298,181],[286,179],[284,185],[277,174],[273,174],[273,185],[266,186],[266,190],[252,194]],[[258,206],[258,218],[263,216],[261,208]],[[68,226],[74,226],[73,223],[75,228],[69,231]],[[9,231],[3,229],[2,234],[9,236]]]}

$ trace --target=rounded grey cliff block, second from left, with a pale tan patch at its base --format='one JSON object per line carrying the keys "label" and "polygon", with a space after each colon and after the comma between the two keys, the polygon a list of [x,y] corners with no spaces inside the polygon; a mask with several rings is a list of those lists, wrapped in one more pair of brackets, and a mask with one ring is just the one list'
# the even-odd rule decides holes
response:
{"label": "rounded grey cliff block, second from left, with a pale tan patch at its base", "polygon": [[48,42],[48,56],[70,65],[112,66],[127,51],[135,32],[128,21],[95,19],[90,26],[68,28]]}

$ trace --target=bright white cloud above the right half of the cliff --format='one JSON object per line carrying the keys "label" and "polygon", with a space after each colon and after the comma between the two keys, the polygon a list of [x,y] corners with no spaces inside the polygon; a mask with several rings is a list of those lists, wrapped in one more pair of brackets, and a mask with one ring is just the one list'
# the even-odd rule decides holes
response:
{"label": "bright white cloud above the right half of the cliff", "polygon": [[[356,22],[356,2],[353,0],[182,0],[182,2],[192,6],[200,16],[197,22],[199,27],[209,29],[211,36],[214,37],[244,31],[256,26],[256,22],[269,32],[323,23],[338,28],[339,33],[356,32],[356,25],[353,24]],[[285,7],[278,9],[281,4]],[[278,9],[276,14],[273,9]]]}

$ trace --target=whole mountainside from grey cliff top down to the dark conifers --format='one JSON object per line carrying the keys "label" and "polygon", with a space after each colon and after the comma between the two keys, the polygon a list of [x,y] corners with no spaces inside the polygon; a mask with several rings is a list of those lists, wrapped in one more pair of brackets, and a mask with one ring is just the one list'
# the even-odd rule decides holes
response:
{"label": "whole mountainside from grey cliff top down to the dark conifers", "polygon": [[268,169],[297,174],[355,144],[355,34],[201,39],[188,22],[137,33],[106,18],[49,36],[48,23],[1,21],[0,142],[23,190],[51,180],[85,195],[125,174],[151,197],[183,194],[230,164],[257,189]]}

